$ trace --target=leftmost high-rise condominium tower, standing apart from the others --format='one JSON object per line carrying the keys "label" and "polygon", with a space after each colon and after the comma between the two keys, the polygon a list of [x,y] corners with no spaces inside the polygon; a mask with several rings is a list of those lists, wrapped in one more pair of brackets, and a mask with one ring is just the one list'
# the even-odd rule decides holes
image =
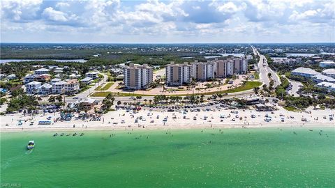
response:
{"label": "leftmost high-rise condominium tower, standing apart from the others", "polygon": [[152,83],[153,71],[147,64],[130,63],[124,68],[124,85],[128,89],[148,88]]}

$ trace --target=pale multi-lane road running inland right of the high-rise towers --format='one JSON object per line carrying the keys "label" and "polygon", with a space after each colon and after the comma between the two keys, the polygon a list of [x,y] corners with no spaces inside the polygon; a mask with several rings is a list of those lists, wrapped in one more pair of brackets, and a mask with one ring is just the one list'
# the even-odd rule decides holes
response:
{"label": "pale multi-lane road running inland right of the high-rise towers", "polygon": [[281,84],[281,79],[278,77],[276,72],[274,72],[274,70],[269,68],[269,64],[267,63],[267,58],[265,58],[265,56],[260,54],[255,47],[253,46],[251,47],[253,48],[253,54],[255,54],[255,56],[256,55],[260,56],[260,61],[258,62],[258,68],[260,71],[260,81],[262,81],[263,84],[266,84],[267,86],[269,86],[270,79],[269,77],[267,77],[267,75],[271,73],[271,79],[274,80],[274,88],[276,88],[276,86]]}

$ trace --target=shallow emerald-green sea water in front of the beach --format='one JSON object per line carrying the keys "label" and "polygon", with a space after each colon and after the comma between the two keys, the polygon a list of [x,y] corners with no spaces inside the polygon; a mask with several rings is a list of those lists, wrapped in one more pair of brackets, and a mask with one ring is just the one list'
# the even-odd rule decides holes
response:
{"label": "shallow emerald-green sea water in front of the beach", "polygon": [[[335,130],[1,134],[1,184],[22,187],[334,187]],[[297,134],[293,134],[296,132]],[[110,138],[110,134],[116,134]],[[138,139],[136,139],[138,138]],[[27,152],[27,142],[36,148]]]}

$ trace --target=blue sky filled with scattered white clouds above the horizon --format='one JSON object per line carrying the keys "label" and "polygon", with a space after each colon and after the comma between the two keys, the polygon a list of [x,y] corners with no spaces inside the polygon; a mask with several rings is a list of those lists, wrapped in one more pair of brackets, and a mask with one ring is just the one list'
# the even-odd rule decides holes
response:
{"label": "blue sky filled with scattered white clouds above the horizon", "polygon": [[334,0],[1,0],[1,42],[334,42]]}

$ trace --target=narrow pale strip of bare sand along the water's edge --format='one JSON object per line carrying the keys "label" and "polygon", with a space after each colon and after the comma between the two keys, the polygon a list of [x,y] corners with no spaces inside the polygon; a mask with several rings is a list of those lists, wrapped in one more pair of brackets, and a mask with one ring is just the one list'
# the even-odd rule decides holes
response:
{"label": "narrow pale strip of bare sand along the water's edge", "polygon": [[101,127],[101,126],[94,126],[94,127],[8,127],[8,128],[0,128],[0,133],[9,133],[9,132],[52,132],[52,131],[63,131],[63,132],[98,132],[98,131],[122,131],[122,130],[145,130],[145,131],[154,131],[154,130],[200,130],[200,129],[262,129],[262,128],[318,128],[318,127],[333,127],[335,128],[334,123],[321,123],[320,125],[316,125],[316,123],[293,123],[292,125],[284,123],[280,125],[278,123],[266,123],[262,125],[250,124],[235,124],[235,125],[151,125],[147,127],[128,127],[128,126],[117,126],[117,127]]}

